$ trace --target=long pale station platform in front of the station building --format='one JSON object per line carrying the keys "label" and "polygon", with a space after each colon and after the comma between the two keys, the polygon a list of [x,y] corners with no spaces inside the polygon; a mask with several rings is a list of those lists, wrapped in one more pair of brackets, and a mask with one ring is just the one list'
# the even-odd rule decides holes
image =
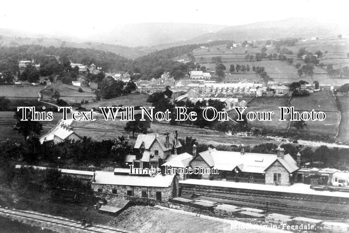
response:
{"label": "long pale station platform in front of the station building", "polygon": [[231,181],[220,181],[220,180],[197,180],[197,179],[187,179],[180,180],[180,184],[188,185],[203,185],[203,186],[214,186],[214,187],[227,187],[227,188],[237,188],[237,189],[253,189],[262,191],[272,191],[281,193],[292,193],[292,194],[308,194],[308,195],[321,195],[328,197],[344,197],[349,198],[349,193],[345,192],[330,192],[330,191],[317,191],[310,188],[310,185],[305,185],[303,183],[295,183],[291,186],[275,186],[275,185],[263,185],[256,183],[243,183],[243,182],[231,182]]}

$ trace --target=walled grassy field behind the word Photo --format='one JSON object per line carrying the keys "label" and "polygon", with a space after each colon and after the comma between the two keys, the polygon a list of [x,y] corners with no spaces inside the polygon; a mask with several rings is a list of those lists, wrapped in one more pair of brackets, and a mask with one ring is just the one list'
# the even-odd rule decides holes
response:
{"label": "walled grassy field behind the word Photo", "polygon": [[[340,121],[340,112],[337,108],[336,100],[333,96],[329,96],[327,91],[319,91],[311,93],[306,97],[294,97],[291,99],[290,106],[294,106],[296,111],[324,111],[326,119],[324,121],[307,121],[305,132],[314,134],[328,134],[336,136]],[[294,127],[291,131],[296,131]],[[302,131],[302,130],[300,130]]]}

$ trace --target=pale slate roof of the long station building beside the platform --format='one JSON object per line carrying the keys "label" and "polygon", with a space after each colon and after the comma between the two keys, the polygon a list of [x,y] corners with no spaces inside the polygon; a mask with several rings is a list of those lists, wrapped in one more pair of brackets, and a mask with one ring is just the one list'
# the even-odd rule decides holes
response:
{"label": "pale slate roof of the long station building beside the platform", "polygon": [[297,162],[291,155],[278,158],[277,155],[272,154],[244,153],[241,155],[240,152],[216,149],[201,152],[199,155],[210,167],[223,171],[232,171],[238,167],[242,172],[265,173],[276,161],[279,161],[289,173],[298,170]]}

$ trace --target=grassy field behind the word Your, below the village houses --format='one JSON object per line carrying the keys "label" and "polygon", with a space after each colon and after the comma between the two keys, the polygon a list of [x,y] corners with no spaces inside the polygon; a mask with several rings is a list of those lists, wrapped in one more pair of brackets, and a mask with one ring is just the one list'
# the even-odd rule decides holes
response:
{"label": "grassy field behind the word Your, below the village houses", "polygon": [[[287,130],[289,121],[287,118],[286,121],[279,121],[280,119],[280,109],[279,107],[286,106],[287,107],[288,97],[260,97],[254,98],[248,105],[245,110],[245,114],[248,112],[268,112],[273,111],[274,115],[272,115],[273,121],[248,121],[248,126],[254,128],[268,128],[273,130]],[[233,118],[237,113],[235,110],[229,111],[229,117]]]}

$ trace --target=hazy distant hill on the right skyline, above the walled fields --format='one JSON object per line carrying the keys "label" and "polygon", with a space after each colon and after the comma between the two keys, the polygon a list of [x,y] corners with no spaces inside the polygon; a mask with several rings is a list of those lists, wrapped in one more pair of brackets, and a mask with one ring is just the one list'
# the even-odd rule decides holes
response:
{"label": "hazy distant hill on the right skyline, above the walled fields", "polygon": [[279,21],[257,22],[226,27],[215,33],[206,33],[198,37],[156,46],[165,48],[186,44],[205,43],[211,40],[266,40],[287,37],[295,38],[330,38],[342,34],[348,37],[348,22],[321,20],[318,18],[288,18]]}

